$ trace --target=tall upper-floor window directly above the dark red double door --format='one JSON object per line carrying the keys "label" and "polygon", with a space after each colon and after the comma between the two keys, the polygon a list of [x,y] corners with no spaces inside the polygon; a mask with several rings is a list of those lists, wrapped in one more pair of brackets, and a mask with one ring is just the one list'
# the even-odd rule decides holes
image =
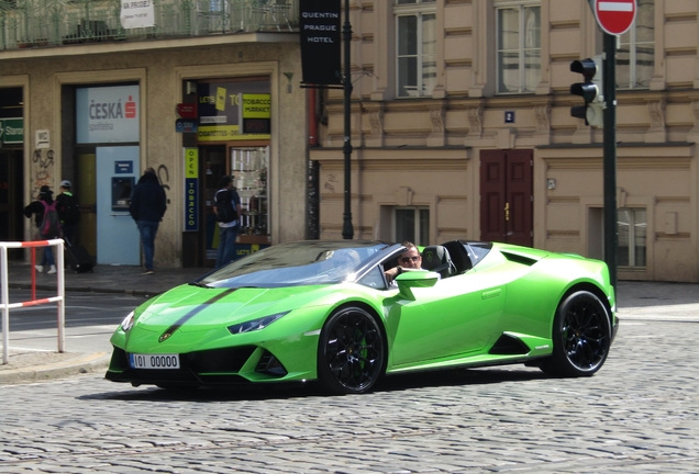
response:
{"label": "tall upper-floor window directly above the dark red double door", "polygon": [[541,8],[502,2],[496,8],[499,93],[533,93],[541,80]]}

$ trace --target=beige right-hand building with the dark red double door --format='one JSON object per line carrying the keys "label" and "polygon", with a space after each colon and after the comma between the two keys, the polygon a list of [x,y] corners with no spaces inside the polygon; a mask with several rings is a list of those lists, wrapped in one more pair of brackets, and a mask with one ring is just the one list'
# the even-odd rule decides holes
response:
{"label": "beige right-hand building with the dark red double door", "polygon": [[[585,0],[353,1],[354,238],[603,258],[603,131],[573,117],[602,53]],[[637,0],[617,53],[620,280],[699,281],[699,4]],[[342,238],[344,108],[323,97],[321,238]]]}

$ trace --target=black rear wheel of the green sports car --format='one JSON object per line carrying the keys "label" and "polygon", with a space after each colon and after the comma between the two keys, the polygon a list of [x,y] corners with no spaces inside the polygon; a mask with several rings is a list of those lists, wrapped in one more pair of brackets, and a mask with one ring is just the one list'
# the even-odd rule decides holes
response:
{"label": "black rear wheel of the green sports car", "polygon": [[578,291],[556,311],[553,354],[541,370],[554,376],[590,376],[599,371],[611,347],[611,323],[604,304],[595,294]]}

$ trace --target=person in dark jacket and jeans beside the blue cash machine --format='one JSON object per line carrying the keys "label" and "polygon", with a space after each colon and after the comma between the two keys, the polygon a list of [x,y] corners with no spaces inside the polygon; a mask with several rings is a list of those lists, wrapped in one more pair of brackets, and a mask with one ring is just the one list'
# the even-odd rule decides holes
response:
{"label": "person in dark jacket and jeans beside the blue cash machine", "polygon": [[153,256],[155,253],[155,235],[158,225],[163,221],[167,202],[165,190],[158,181],[153,168],[147,168],[131,195],[129,212],[136,222],[141,233],[141,245],[143,246],[143,260],[145,272],[153,274]]}

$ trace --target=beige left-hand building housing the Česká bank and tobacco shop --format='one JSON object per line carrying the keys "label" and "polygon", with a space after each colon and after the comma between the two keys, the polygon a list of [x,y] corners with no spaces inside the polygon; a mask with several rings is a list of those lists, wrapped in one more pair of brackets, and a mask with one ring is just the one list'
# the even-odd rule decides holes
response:
{"label": "beige left-hand building housing the \u010cesk\u00e1 bank and tobacco shop", "polygon": [[2,240],[36,238],[22,207],[68,179],[82,207],[79,242],[97,263],[141,264],[127,204],[146,168],[168,202],[156,269],[214,264],[212,199],[224,174],[243,204],[238,256],[306,237],[298,2],[195,3],[160,2],[157,25],[135,30],[100,2],[57,2],[66,14],[48,32],[29,2],[0,11],[0,120],[19,131],[0,147]]}

